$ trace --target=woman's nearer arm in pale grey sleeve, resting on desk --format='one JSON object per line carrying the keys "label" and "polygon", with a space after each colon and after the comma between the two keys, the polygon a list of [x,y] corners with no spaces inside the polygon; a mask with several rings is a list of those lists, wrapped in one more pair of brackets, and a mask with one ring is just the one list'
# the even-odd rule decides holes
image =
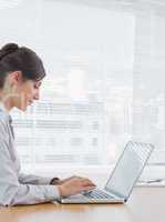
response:
{"label": "woman's nearer arm in pale grey sleeve, resting on desk", "polygon": [[9,150],[9,135],[0,124],[0,205],[34,204],[60,198],[55,185],[21,184]]}

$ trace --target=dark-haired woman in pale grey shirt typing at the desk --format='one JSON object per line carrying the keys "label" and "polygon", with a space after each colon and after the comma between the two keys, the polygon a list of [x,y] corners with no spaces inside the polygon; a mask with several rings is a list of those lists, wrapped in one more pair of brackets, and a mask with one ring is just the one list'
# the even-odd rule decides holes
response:
{"label": "dark-haired woman in pale grey shirt typing at the desk", "polygon": [[0,50],[0,205],[50,202],[94,188],[85,178],[49,179],[20,173],[9,111],[25,111],[39,91],[45,71],[35,52],[16,43]]}

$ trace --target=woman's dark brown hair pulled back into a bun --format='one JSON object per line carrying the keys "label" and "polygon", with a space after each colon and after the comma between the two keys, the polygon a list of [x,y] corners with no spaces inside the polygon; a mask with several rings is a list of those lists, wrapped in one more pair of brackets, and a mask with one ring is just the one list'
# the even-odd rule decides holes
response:
{"label": "woman's dark brown hair pulled back into a bun", "polygon": [[43,63],[34,51],[8,43],[0,49],[0,88],[7,74],[13,71],[21,71],[23,80],[39,81],[45,75]]}

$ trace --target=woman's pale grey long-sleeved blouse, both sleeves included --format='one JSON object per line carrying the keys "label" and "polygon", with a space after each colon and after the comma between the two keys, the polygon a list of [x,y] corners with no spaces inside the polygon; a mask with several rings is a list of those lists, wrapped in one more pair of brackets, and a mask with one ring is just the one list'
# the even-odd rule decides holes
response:
{"label": "woman's pale grey long-sleeved blouse, both sleeves included", "polygon": [[11,117],[0,103],[0,205],[34,204],[60,198],[50,178],[20,172]]}

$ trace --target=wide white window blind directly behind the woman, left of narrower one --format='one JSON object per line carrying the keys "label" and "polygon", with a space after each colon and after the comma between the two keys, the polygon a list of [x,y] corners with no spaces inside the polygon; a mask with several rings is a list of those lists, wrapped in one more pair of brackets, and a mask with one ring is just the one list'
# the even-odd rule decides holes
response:
{"label": "wide white window blind directly behind the woman, left of narrower one", "polygon": [[48,72],[41,100],[12,111],[24,167],[111,164],[131,137],[134,16],[89,3],[22,0],[1,10],[1,44],[31,47]]}

